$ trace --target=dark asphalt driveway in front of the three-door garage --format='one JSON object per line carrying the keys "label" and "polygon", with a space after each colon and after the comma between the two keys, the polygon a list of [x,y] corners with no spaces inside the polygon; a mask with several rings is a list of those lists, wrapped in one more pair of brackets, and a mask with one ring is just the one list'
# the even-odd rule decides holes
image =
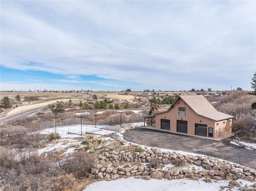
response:
{"label": "dark asphalt driveway in front of the three-door garage", "polygon": [[256,169],[256,151],[230,144],[225,140],[216,141],[148,128],[127,130],[124,132],[124,139],[151,147],[204,154]]}

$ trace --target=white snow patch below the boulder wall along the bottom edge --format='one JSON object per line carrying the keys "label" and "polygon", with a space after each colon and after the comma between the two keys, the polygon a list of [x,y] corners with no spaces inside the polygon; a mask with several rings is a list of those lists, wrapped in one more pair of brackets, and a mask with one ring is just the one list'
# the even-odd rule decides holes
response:
{"label": "white snow patch below the boulder wall along the bottom edge", "polygon": [[[238,179],[237,182],[241,181]],[[98,181],[94,182],[85,187],[83,191],[232,191],[239,190],[237,187],[230,187],[228,185],[229,181],[212,181],[209,183],[204,182],[203,179],[136,179],[134,177],[130,178],[120,178],[114,181]],[[251,186],[253,183],[248,181],[241,181],[243,185]],[[221,189],[221,187],[225,187]]]}

